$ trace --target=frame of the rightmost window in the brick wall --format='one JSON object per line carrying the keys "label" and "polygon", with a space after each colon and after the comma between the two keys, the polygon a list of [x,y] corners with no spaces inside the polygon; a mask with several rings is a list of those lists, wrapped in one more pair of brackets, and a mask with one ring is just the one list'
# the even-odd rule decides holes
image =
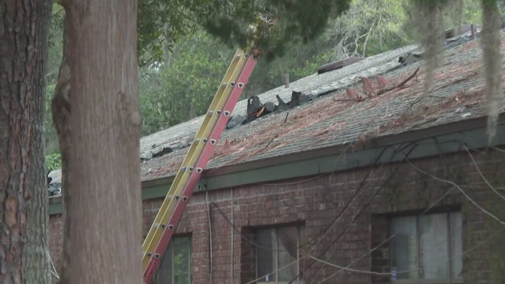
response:
{"label": "frame of the rightmost window in the brick wall", "polygon": [[[389,278],[389,283],[391,284],[463,284],[463,277],[461,278],[455,278],[453,279],[452,277],[452,268],[453,268],[453,263],[454,261],[451,259],[453,250],[452,250],[452,240],[451,240],[451,214],[453,213],[460,213],[463,214],[461,210],[451,210],[451,211],[441,211],[441,212],[433,212],[430,214],[424,214],[421,216],[415,216],[416,218],[416,242],[417,242],[417,279],[412,278],[412,279],[397,279],[393,280],[391,277]],[[432,214],[445,214],[446,218],[446,224],[447,224],[447,242],[445,246],[447,247],[447,253],[448,253],[448,258],[447,258],[447,276],[444,281],[441,281],[442,279],[421,279],[421,229],[420,229],[420,220],[422,216],[427,216],[427,215],[432,215]],[[410,217],[412,215],[407,215],[407,216],[393,216],[391,217],[390,220],[393,220],[395,218],[399,217]],[[391,233],[391,225],[389,226],[389,233]],[[462,232],[463,233],[463,232]],[[462,235],[463,238],[463,235]],[[391,271],[392,268],[392,249],[391,247],[388,249],[388,254],[389,254],[389,269]]]}

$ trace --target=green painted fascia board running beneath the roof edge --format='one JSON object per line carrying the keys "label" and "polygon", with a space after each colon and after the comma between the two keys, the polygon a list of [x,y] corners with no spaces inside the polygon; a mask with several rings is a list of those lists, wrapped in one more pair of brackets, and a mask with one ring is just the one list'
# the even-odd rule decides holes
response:
{"label": "green painted fascia board running beneath the roof edge", "polygon": [[[436,143],[435,143],[436,139]],[[409,159],[430,157],[441,154],[464,151],[461,143],[470,149],[482,149],[488,147],[487,134],[484,128],[460,131],[456,133],[425,138],[415,142],[399,143],[390,146],[381,146],[350,152],[346,154],[334,154],[325,157],[277,164],[240,172],[232,172],[218,176],[210,176],[201,179],[207,190],[216,190],[232,186],[240,186],[259,182],[273,182],[289,178],[311,176],[323,173],[337,172],[369,166],[374,163],[389,163],[401,161],[404,154],[409,153]],[[493,146],[505,145],[505,125],[499,125],[497,137]],[[413,149],[412,149],[413,148]],[[412,150],[412,151],[411,151]],[[395,153],[398,151],[399,153]],[[170,182],[165,184],[142,188],[142,200],[163,198],[170,189]],[[197,191],[198,188],[195,189]],[[62,212],[61,204],[49,205],[49,214]]]}

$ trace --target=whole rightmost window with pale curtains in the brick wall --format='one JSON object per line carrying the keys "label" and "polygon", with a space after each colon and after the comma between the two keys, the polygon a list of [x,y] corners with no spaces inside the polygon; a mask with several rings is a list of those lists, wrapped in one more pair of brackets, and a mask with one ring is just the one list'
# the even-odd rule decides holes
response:
{"label": "whole rightmost window with pale curtains in the brick wall", "polygon": [[[400,231],[401,230],[401,231]],[[392,283],[462,283],[461,212],[391,220]]]}

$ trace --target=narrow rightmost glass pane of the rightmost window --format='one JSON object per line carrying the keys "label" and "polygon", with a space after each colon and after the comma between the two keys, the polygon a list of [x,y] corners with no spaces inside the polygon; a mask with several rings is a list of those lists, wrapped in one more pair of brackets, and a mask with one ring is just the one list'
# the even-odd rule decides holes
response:
{"label": "narrow rightmost glass pane of the rightmost window", "polygon": [[450,214],[450,257],[452,261],[451,278],[461,279],[463,271],[463,258],[462,258],[462,214],[461,212],[453,212]]}

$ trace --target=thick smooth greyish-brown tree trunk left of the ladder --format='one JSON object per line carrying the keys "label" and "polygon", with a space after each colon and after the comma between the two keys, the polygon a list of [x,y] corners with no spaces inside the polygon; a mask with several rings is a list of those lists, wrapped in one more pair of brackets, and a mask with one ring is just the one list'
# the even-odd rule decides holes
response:
{"label": "thick smooth greyish-brown tree trunk left of the ladder", "polygon": [[64,169],[68,166],[63,185],[68,259],[62,283],[138,284],[142,239],[137,1],[62,4],[67,17],[65,54],[71,55],[64,55],[70,84],[62,80],[57,87],[67,96],[53,101],[54,109],[62,111],[54,114],[55,124],[68,127],[60,131],[60,143],[68,144],[68,151],[62,149]]}

